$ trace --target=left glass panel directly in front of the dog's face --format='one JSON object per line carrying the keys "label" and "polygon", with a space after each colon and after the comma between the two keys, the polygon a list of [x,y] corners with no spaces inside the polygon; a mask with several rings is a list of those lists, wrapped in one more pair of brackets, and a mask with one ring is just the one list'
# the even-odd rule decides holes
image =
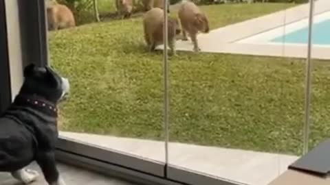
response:
{"label": "left glass panel directly in front of the dog's face", "polygon": [[52,66],[72,87],[61,136],[164,162],[162,54],[148,53],[138,8],[129,0],[49,2],[48,23],[59,28],[48,34]]}

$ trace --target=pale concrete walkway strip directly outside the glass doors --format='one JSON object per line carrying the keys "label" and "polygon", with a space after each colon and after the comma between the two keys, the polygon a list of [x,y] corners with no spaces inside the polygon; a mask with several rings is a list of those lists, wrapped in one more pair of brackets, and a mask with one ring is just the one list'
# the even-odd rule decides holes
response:
{"label": "pale concrete walkway strip directly outside the glass doors", "polygon": [[[61,132],[64,138],[98,145],[131,155],[165,162],[164,142],[134,138],[118,138],[95,134]],[[100,142],[102,141],[102,142]],[[297,156],[276,153],[244,151],[170,143],[169,163],[171,165],[225,178],[242,184],[266,185],[283,173]]]}

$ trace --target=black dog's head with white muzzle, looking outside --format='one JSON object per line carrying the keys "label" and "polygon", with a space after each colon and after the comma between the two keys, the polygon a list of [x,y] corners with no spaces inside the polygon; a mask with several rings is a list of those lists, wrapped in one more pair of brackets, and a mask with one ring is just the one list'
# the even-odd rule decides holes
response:
{"label": "black dog's head with white muzzle, looking outside", "polygon": [[41,97],[57,104],[69,95],[69,80],[58,75],[50,66],[30,64],[24,69],[20,94]]}

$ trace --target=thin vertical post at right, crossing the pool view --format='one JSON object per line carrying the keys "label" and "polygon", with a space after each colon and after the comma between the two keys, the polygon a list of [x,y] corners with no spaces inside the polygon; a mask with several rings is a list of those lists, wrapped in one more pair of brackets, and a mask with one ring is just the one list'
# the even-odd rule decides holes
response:
{"label": "thin vertical post at right, crossing the pool view", "polygon": [[309,0],[309,30],[308,30],[308,48],[306,61],[306,84],[305,84],[305,124],[304,124],[304,140],[303,154],[308,152],[309,129],[310,129],[310,109],[311,109],[311,38],[313,32],[313,17],[314,16],[314,0]]}

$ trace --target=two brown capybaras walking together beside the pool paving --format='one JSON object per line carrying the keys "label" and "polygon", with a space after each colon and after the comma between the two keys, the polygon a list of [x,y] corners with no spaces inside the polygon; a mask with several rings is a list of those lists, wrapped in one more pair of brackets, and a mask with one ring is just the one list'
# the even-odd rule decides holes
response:
{"label": "two brown capybaras walking together beside the pool paving", "polygon": [[[183,34],[182,40],[188,40],[188,34],[194,44],[194,51],[200,51],[197,34],[199,32],[210,32],[206,14],[201,12],[195,3],[182,1],[181,5],[179,5],[178,17],[181,22],[181,29],[179,28],[177,18],[168,16],[168,46],[172,54],[175,55],[176,53],[175,42],[181,31]],[[151,8],[151,10],[148,10],[144,14],[143,26],[144,39],[149,51],[153,51],[157,45],[162,45],[164,41],[164,10],[162,8]]]}

